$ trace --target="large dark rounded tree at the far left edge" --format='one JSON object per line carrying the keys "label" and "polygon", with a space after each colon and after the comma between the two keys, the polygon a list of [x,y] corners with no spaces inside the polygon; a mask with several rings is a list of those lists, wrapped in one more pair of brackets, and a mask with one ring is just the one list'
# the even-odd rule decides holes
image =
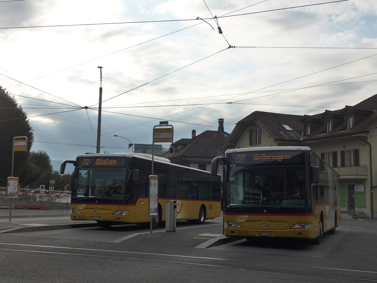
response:
{"label": "large dark rounded tree at the far left edge", "polygon": [[12,155],[14,153],[13,176],[19,177],[27,164],[29,152],[12,152],[14,137],[28,138],[30,150],[34,134],[27,115],[11,94],[0,86],[0,186],[5,187],[12,174]]}

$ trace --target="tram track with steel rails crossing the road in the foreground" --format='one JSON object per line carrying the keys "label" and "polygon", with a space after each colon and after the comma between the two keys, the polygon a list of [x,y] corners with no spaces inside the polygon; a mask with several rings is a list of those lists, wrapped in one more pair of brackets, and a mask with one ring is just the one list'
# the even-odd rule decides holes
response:
{"label": "tram track with steel rails crossing the road in the foreground", "polygon": [[[9,248],[6,248],[6,247]],[[15,247],[15,248],[12,248]],[[16,248],[19,247],[19,248]],[[29,249],[28,249],[29,248]],[[38,250],[32,250],[38,249]],[[77,252],[63,252],[64,251],[77,251]],[[81,253],[80,253],[81,252]],[[112,253],[106,255],[106,253]],[[368,281],[377,282],[377,272],[356,270],[356,269],[341,269],[330,268],[321,266],[305,266],[284,263],[270,263],[261,261],[250,260],[235,260],[229,258],[213,258],[213,257],[196,257],[189,255],[175,255],[175,254],[158,254],[147,252],[130,252],[130,251],[116,251],[105,249],[85,249],[85,248],[71,248],[71,247],[58,247],[58,246],[41,246],[41,245],[25,245],[25,244],[11,244],[0,243],[0,253],[2,254],[26,254],[31,253],[34,255],[46,255],[49,257],[66,257],[70,259],[86,260],[122,260],[122,261],[144,261],[154,263],[168,263],[178,265],[189,265],[207,268],[220,268],[220,269],[238,269],[243,271],[261,271],[272,272],[274,274],[291,274],[296,276],[310,276],[312,279],[320,280],[319,278],[328,278],[333,280],[342,280],[339,282],[355,282],[355,281]],[[118,254],[118,255],[117,255]],[[134,256],[121,256],[122,254]],[[161,258],[165,257],[165,258]],[[211,262],[208,262],[211,261]],[[228,264],[224,264],[228,263]],[[263,266],[263,267],[260,267]],[[300,271],[297,271],[300,270]],[[315,272],[313,272],[315,271]],[[328,274],[325,274],[325,273]],[[334,274],[331,274],[334,273]],[[337,274],[344,275],[337,275]],[[346,275],[347,274],[347,275]],[[317,277],[317,278],[315,278]],[[308,279],[308,278],[307,278]],[[346,281],[345,281],[346,280]],[[311,280],[307,280],[311,281]]]}

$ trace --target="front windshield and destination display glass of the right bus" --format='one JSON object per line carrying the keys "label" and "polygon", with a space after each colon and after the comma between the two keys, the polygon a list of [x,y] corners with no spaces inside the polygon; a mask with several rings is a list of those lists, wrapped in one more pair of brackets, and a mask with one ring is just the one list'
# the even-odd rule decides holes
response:
{"label": "front windshield and destination display glass of the right bus", "polygon": [[[265,153],[265,152],[264,152]],[[248,156],[253,154],[253,156]],[[305,187],[304,152],[294,152],[289,159],[274,160],[273,154],[247,152],[241,162],[230,157],[226,207],[239,213],[303,213],[310,204],[310,193]],[[281,156],[281,155],[280,155]],[[288,155],[287,155],[288,156]],[[249,162],[248,162],[249,160]],[[251,164],[250,164],[251,163]]]}

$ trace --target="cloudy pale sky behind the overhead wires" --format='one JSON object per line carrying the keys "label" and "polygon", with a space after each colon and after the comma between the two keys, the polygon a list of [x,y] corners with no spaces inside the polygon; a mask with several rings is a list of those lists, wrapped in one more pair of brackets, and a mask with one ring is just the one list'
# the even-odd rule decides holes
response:
{"label": "cloudy pale sky behind the overhead wires", "polygon": [[0,85],[52,160],[96,152],[98,66],[101,153],[341,109],[377,93],[377,1],[326,2],[0,0]]}

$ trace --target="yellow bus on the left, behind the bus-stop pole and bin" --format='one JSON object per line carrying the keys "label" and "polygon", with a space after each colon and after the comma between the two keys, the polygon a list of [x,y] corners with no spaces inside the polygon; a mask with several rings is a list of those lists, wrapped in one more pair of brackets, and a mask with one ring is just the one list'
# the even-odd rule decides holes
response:
{"label": "yellow bus on the left, behind the bus-stop pole and bin", "polygon": [[[72,220],[96,220],[102,226],[115,223],[150,223],[149,176],[152,155],[137,153],[82,154],[65,160],[75,166],[70,184]],[[166,203],[177,200],[177,220],[203,223],[221,214],[221,177],[210,172],[175,165],[154,157],[158,176],[157,228],[166,218]]]}

